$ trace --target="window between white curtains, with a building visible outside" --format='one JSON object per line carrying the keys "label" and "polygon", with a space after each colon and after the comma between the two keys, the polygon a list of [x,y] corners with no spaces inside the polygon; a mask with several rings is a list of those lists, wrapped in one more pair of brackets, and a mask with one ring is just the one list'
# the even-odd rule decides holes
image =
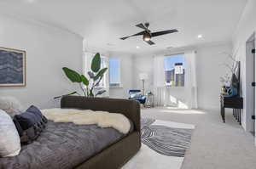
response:
{"label": "window between white curtains, with a building visible outside", "polygon": [[166,57],[165,73],[166,73],[166,86],[184,87],[185,57],[183,55]]}

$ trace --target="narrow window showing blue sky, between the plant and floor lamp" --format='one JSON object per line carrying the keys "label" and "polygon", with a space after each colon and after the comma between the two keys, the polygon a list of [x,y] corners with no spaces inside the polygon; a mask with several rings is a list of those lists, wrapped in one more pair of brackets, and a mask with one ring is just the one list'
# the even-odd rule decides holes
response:
{"label": "narrow window showing blue sky, between the plant and floor lamp", "polygon": [[121,87],[120,59],[109,59],[109,87]]}

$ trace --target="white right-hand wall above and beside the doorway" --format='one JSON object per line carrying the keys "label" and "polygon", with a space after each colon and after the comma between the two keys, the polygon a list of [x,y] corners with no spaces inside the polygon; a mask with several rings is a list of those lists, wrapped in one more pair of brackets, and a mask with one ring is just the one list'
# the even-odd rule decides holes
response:
{"label": "white right-hand wall above and beside the doorway", "polygon": [[251,112],[247,111],[247,89],[250,87],[250,83],[247,80],[247,57],[246,57],[246,42],[256,31],[256,1],[248,0],[247,5],[241,15],[241,20],[237,25],[236,32],[233,36],[233,53],[236,55],[236,59],[241,61],[241,90],[244,103],[244,109],[241,113],[241,124],[246,131],[252,130],[251,126]]}

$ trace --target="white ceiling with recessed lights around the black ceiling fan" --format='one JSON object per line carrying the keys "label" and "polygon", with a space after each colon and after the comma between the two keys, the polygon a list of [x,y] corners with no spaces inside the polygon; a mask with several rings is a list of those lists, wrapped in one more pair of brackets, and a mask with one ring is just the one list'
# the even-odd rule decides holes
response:
{"label": "white ceiling with recessed lights around the black ceiling fan", "polygon": [[[89,48],[122,52],[154,52],[205,42],[230,41],[247,0],[0,0],[0,11],[55,25],[84,37]],[[119,37],[142,31],[179,32],[154,37]],[[198,39],[201,34],[203,38]],[[136,47],[140,48],[137,49]]]}

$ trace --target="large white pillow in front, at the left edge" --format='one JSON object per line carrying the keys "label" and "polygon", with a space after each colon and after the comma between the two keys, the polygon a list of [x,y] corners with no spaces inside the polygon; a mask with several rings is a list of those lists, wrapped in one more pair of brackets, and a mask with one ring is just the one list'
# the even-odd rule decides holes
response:
{"label": "large white pillow in front, at the left edge", "polygon": [[0,157],[19,155],[20,136],[12,118],[0,110]]}

